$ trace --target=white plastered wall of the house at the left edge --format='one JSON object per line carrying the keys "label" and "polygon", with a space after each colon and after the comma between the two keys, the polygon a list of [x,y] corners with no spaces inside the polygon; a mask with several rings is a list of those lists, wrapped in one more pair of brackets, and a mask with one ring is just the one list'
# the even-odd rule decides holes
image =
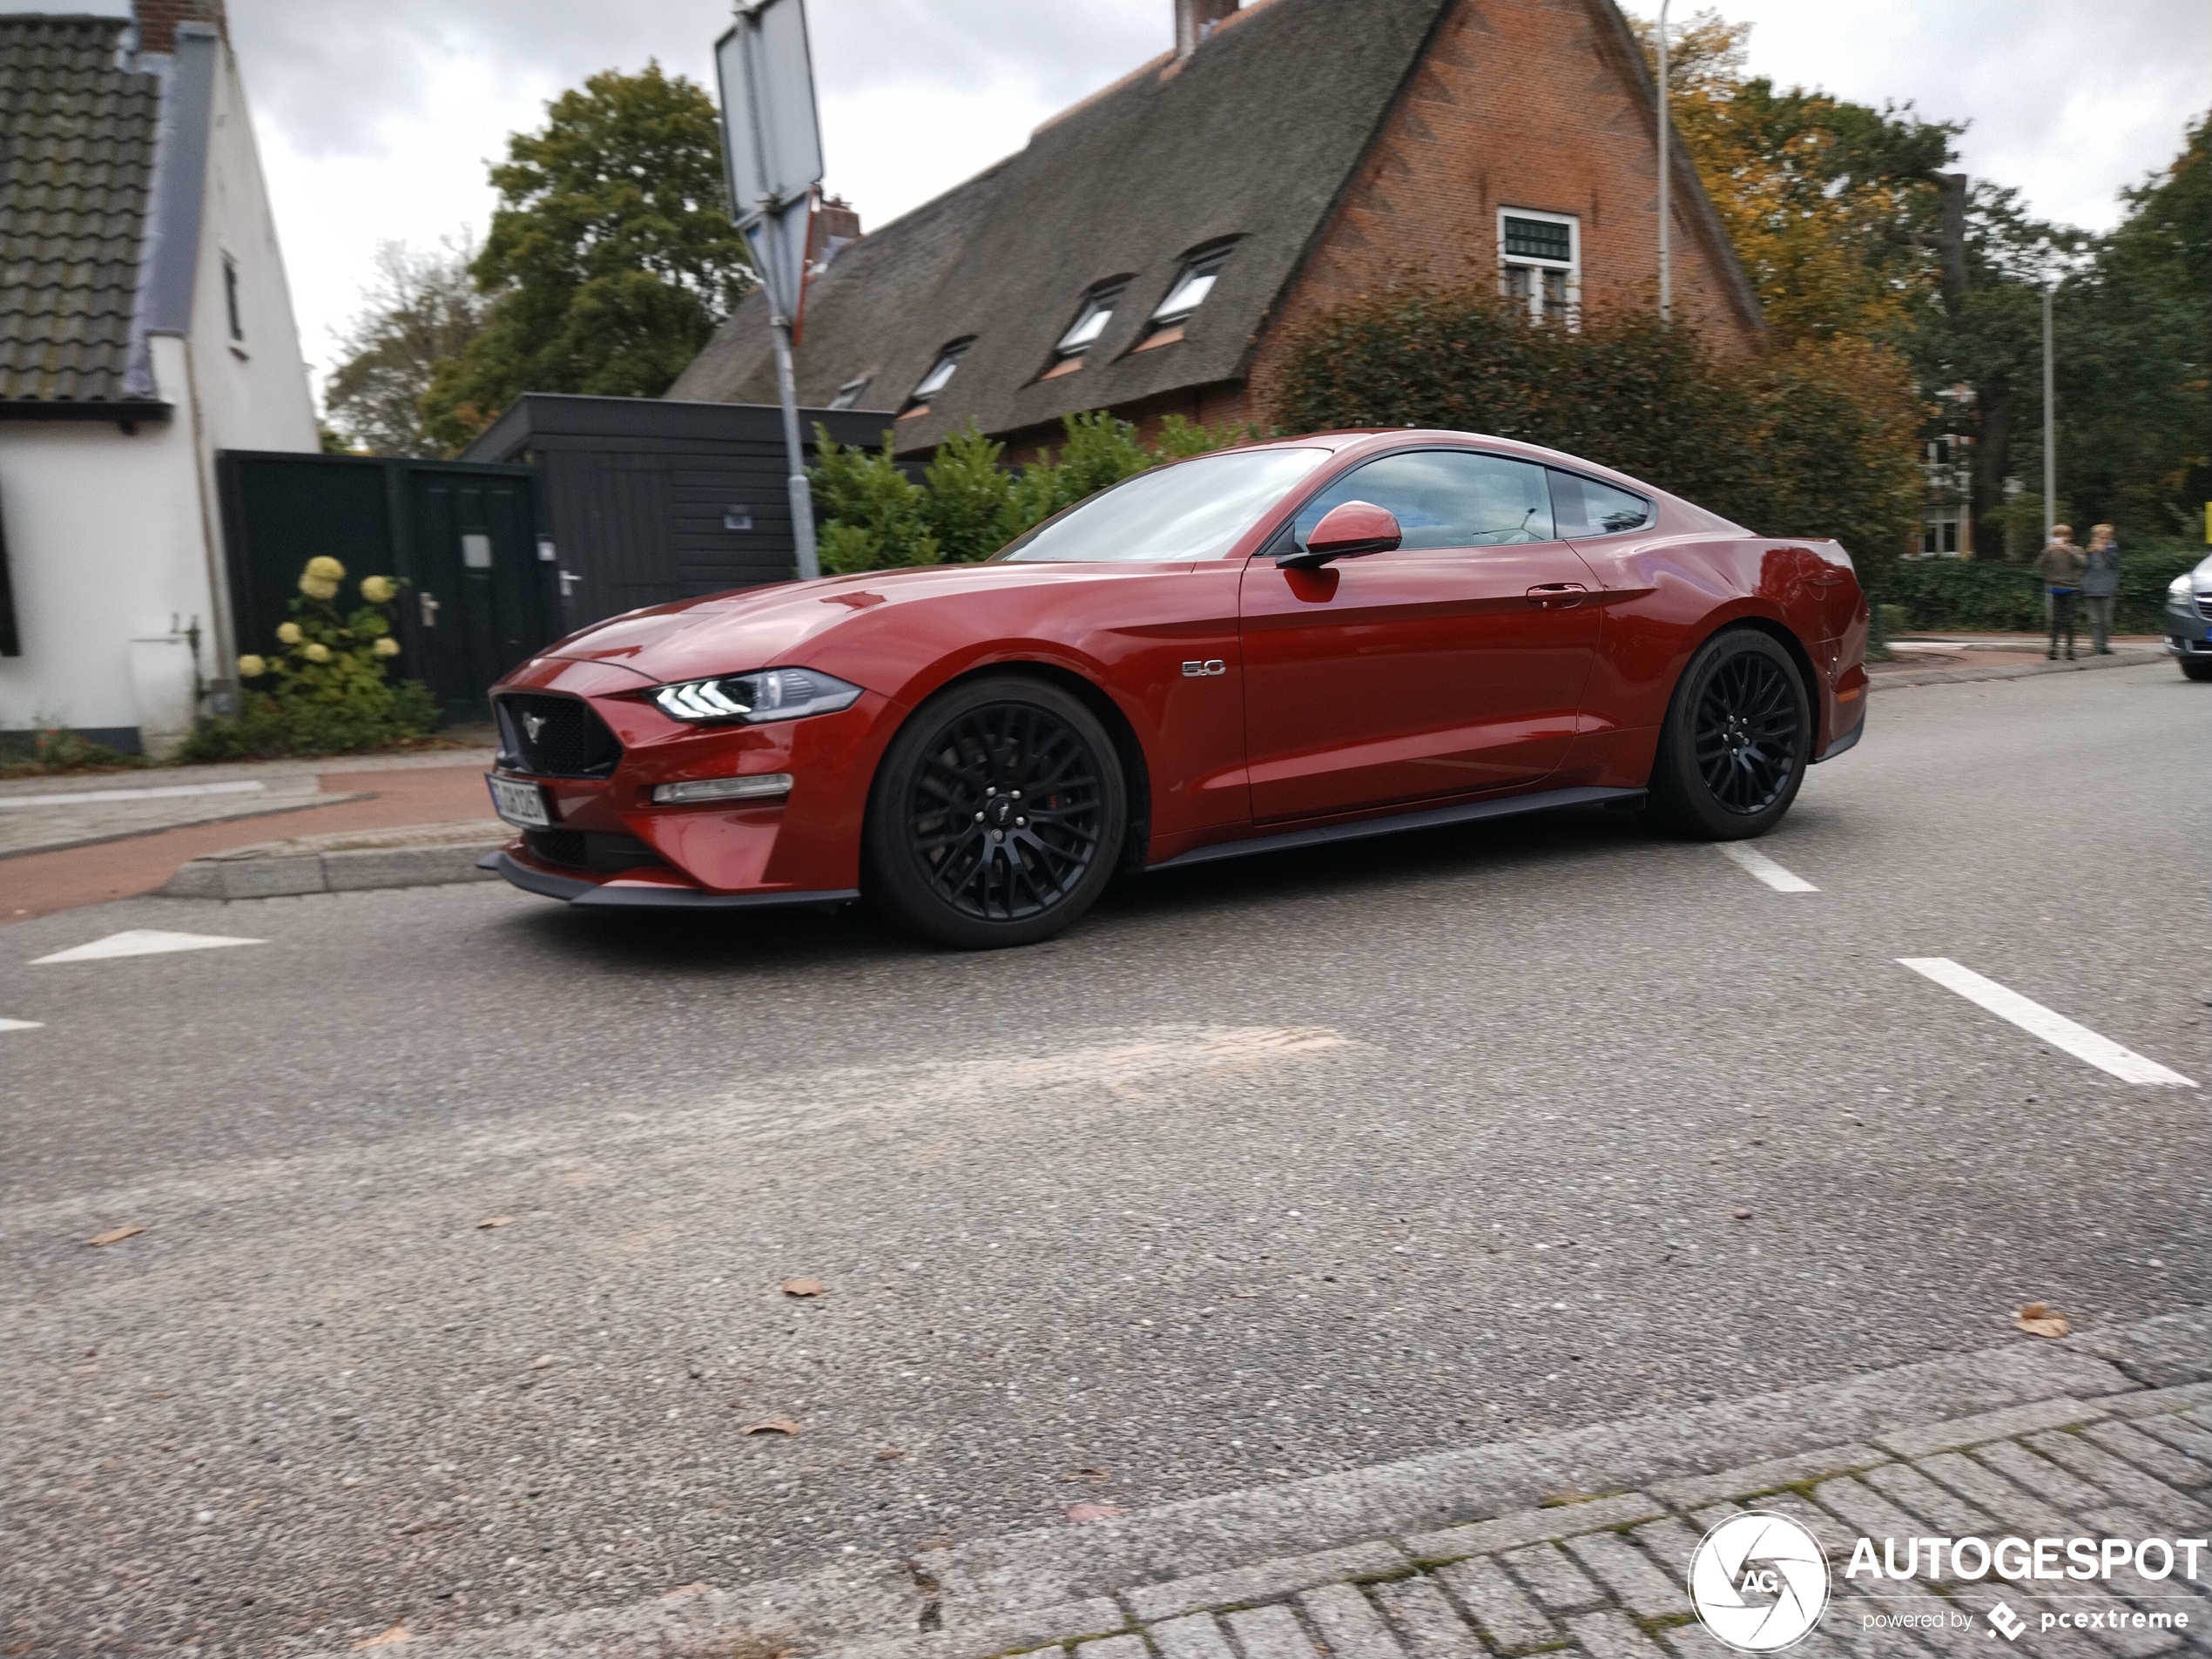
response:
{"label": "white plastered wall of the house at the left edge", "polygon": [[177,398],[168,422],[133,436],[95,420],[0,422],[0,515],[22,637],[20,657],[0,657],[4,730],[62,721],[135,743],[131,641],[195,617],[201,672],[215,668],[184,352],[179,338],[153,341],[155,374]]}

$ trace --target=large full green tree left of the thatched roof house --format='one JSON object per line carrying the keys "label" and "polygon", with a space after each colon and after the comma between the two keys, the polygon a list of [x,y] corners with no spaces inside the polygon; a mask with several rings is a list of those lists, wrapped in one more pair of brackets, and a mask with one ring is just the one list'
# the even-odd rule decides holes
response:
{"label": "large full green tree left of the thatched roof house", "polygon": [[714,102],[657,62],[555,97],[491,184],[500,208],[471,265],[491,316],[422,405],[447,449],[524,392],[659,396],[752,285]]}

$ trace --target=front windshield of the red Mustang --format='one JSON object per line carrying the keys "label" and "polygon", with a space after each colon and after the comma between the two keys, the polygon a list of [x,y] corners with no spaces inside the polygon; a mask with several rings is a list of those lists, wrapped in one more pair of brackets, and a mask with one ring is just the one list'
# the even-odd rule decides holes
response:
{"label": "front windshield of the red Mustang", "polygon": [[1327,458],[1327,449],[1232,449],[1137,473],[1022,533],[998,557],[1031,564],[1219,560],[1252,520]]}

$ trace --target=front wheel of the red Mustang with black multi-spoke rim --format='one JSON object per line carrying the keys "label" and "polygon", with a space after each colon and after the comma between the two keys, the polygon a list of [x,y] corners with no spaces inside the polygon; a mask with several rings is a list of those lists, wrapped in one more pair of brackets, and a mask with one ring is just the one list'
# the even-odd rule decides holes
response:
{"label": "front wheel of the red Mustang with black multi-spoke rim", "polygon": [[1035,945],[1091,909],[1126,827],[1121,761],[1088,708],[1040,679],[973,679],[916,710],[876,770],[869,894],[940,945]]}

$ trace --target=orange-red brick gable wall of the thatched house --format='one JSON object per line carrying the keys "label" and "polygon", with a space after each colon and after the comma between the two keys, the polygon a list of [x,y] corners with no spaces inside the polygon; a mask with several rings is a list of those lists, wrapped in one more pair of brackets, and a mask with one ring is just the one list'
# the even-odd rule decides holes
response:
{"label": "orange-red brick gable wall of the thatched house", "polygon": [[[1606,9],[1608,0],[1458,0],[1438,22],[1259,343],[1254,411],[1267,409],[1290,341],[1314,316],[1405,281],[1495,283],[1500,208],[1582,221],[1584,305],[1655,301],[1655,122]],[[1679,186],[1672,219],[1674,316],[1721,349],[1756,349],[1717,232]]]}

